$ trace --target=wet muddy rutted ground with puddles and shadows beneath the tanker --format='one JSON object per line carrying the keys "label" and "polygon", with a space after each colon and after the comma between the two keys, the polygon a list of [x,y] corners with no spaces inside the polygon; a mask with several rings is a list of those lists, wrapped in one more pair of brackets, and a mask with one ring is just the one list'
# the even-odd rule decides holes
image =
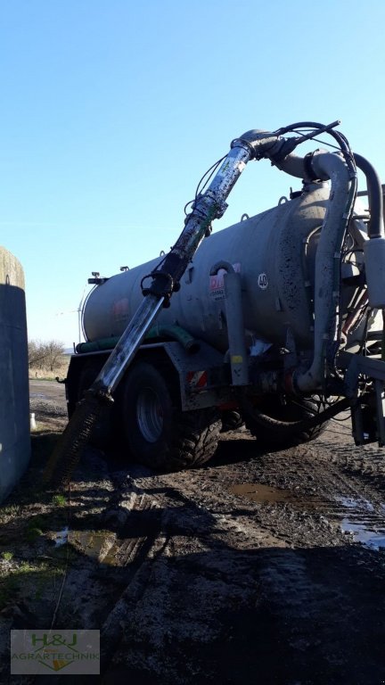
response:
{"label": "wet muddy rutted ground with puddles and shadows beneath the tanker", "polygon": [[281,451],[224,433],[174,475],[89,449],[69,506],[40,482],[62,386],[32,384],[31,408],[32,466],[0,508],[1,683],[64,677],[9,676],[10,629],[52,625],[101,631],[82,681],[385,681],[385,451],[347,420]]}

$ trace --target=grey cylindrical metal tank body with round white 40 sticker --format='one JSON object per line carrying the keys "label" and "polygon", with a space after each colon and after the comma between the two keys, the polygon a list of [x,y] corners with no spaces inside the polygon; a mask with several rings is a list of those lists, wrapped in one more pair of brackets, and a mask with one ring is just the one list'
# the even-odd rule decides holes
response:
{"label": "grey cylindrical metal tank body with round white 40 sticker", "polygon": [[[328,186],[312,189],[251,219],[205,238],[186,270],[179,293],[160,322],[177,323],[219,351],[228,347],[220,277],[209,276],[218,260],[242,276],[242,304],[249,338],[284,344],[287,327],[300,349],[313,345],[311,297],[315,240],[329,198]],[[83,325],[94,341],[121,334],[142,300],[140,283],[160,258],[112,276],[86,301]]]}

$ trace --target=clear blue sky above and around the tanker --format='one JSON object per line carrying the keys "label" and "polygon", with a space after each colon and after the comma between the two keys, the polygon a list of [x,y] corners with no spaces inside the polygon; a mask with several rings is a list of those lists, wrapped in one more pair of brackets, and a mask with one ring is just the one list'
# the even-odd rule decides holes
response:
{"label": "clear blue sky above and around the tanker", "polygon": [[[0,4],[0,243],[25,270],[29,337],[77,342],[91,271],[167,251],[245,130],[340,119],[385,182],[384,26],[383,0]],[[250,163],[216,229],[296,184]]]}

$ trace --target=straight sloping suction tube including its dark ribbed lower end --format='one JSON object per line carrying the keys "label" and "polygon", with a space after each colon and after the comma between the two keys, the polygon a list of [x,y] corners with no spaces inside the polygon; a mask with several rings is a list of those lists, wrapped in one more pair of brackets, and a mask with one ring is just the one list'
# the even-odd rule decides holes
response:
{"label": "straight sloping suction tube including its dark ribbed lower end", "polygon": [[150,274],[151,283],[147,287],[143,286],[145,297],[134,317],[119,338],[99,376],[85,393],[83,400],[78,402],[70,423],[48,460],[44,475],[45,483],[58,483],[62,486],[70,482],[81,451],[101,420],[104,408],[111,403],[112,393],[134,359],[145,334],[151,328],[160,309],[168,305],[172,293],[178,289],[185,268],[193,259],[204,235],[209,234],[212,219],[221,217],[225,212],[228,194],[247,162],[254,157],[254,148],[248,141],[234,141],[208,190],[196,198],[193,211],[187,218],[176,244]]}

